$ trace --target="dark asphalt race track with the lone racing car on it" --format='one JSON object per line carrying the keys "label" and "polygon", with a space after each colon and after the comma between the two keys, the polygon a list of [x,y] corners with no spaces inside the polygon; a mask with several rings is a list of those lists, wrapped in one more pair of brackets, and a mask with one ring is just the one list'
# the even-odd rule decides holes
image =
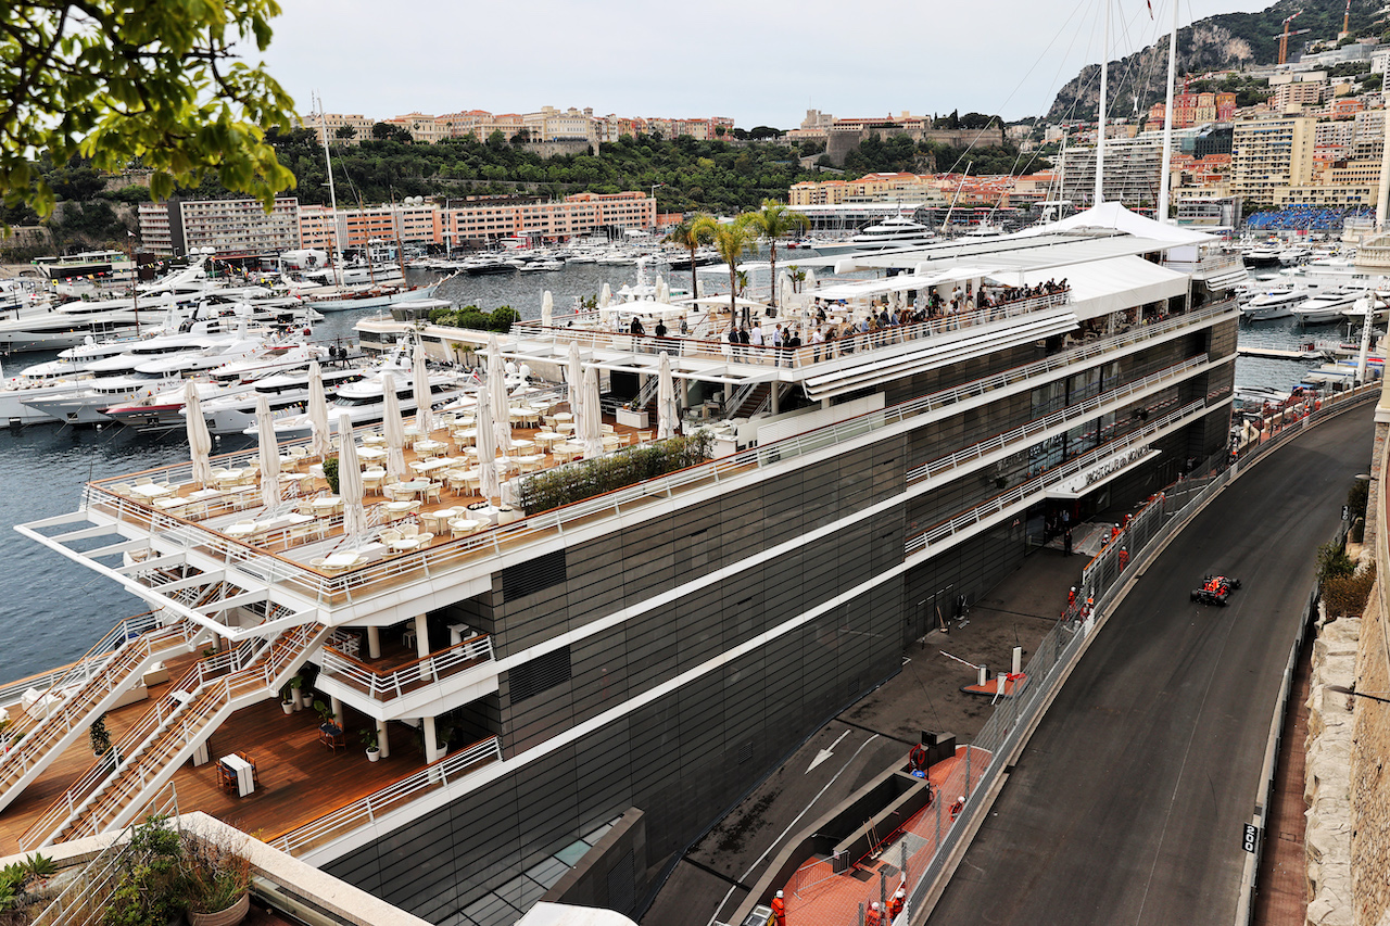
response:
{"label": "dark asphalt race track with the lone racing car on it", "polygon": [[[1232,923],[1273,705],[1315,551],[1357,473],[1372,405],[1273,450],[1134,584],[1019,756],[927,920]],[[1238,577],[1229,608],[1188,592]]]}

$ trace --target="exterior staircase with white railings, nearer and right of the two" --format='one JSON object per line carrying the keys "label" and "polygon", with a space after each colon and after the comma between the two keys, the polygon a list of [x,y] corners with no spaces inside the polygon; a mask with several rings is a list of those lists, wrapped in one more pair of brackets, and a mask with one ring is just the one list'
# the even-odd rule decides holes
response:
{"label": "exterior staircase with white railings, nearer and right of the two", "polygon": [[300,624],[268,645],[250,640],[235,651],[200,659],[110,754],[49,806],[21,837],[21,845],[32,851],[125,826],[232,713],[277,697],[328,633],[318,623]]}

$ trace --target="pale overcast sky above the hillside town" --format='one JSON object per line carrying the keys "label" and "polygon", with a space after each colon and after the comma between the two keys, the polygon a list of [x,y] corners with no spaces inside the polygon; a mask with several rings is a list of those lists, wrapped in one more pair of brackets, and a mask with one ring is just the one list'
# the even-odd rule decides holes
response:
{"label": "pale overcast sky above the hillside town", "polygon": [[[1156,19],[1150,19],[1145,0],[1113,0],[1111,57],[1166,36],[1172,1],[1152,0]],[[1187,25],[1266,6],[1186,0],[1179,15]],[[329,113],[373,118],[549,104],[795,128],[808,108],[838,117],[1042,114],[1058,88],[1099,60],[1104,0],[281,0],[281,7],[264,58],[300,113],[313,108],[317,92]]]}

